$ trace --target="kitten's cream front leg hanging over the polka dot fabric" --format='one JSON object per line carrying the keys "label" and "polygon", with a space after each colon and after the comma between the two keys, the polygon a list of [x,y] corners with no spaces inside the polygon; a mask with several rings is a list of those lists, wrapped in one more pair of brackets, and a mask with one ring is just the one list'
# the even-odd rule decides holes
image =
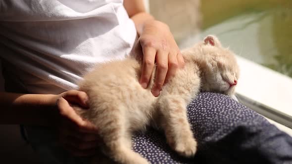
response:
{"label": "kitten's cream front leg hanging over the polka dot fabric", "polygon": [[187,118],[185,100],[179,96],[169,95],[159,101],[162,121],[169,145],[180,155],[195,155],[197,142]]}

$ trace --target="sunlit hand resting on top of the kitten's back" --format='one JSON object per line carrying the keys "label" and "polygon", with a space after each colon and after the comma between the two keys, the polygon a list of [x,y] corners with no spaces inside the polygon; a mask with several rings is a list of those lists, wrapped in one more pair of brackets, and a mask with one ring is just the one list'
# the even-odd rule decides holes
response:
{"label": "sunlit hand resting on top of the kitten's back", "polygon": [[158,96],[163,84],[175,75],[178,68],[184,66],[183,56],[169,27],[159,21],[152,20],[145,23],[136,46],[138,53],[143,53],[140,83],[144,88],[149,83],[154,63],[157,64],[155,82],[151,91],[154,96]]}

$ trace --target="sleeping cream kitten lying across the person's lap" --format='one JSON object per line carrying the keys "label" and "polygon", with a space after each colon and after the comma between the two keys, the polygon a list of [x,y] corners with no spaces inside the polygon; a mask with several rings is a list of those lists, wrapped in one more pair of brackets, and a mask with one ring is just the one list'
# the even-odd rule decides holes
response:
{"label": "sleeping cream kitten lying across the person's lap", "polygon": [[148,164],[131,150],[131,136],[150,124],[164,130],[177,153],[195,155],[197,143],[188,123],[187,105],[200,89],[232,96],[239,68],[233,52],[222,47],[215,36],[207,36],[182,54],[185,67],[163,86],[158,97],[150,91],[155,70],[144,89],[139,83],[142,64],[133,57],[98,65],[84,77],[79,86],[88,94],[91,109],[75,108],[82,118],[97,125],[104,155],[119,164]]}

